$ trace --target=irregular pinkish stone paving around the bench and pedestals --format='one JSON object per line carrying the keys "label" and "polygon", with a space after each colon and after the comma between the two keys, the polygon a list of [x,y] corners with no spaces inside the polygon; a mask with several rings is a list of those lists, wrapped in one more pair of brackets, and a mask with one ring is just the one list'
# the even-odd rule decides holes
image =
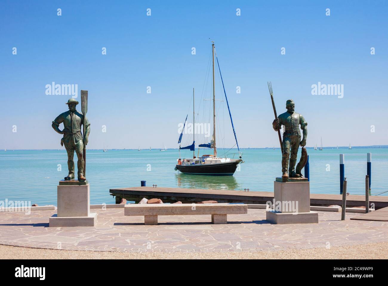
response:
{"label": "irregular pinkish stone paving around the bench and pedestals", "polygon": [[265,210],[228,215],[227,225],[213,225],[210,215],[159,216],[145,226],[123,209],[97,209],[96,227],[50,228],[56,211],[0,212],[0,244],[91,251],[228,252],[315,248],[388,241],[388,223],[350,220],[360,214],[318,212],[319,224],[273,225]]}

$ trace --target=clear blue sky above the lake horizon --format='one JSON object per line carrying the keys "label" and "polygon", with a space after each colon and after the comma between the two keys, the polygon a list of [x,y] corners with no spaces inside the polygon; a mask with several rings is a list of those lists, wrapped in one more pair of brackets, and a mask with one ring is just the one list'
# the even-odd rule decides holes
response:
{"label": "clear blue sky above the lake horizon", "polygon": [[[321,136],[324,146],[387,144],[387,12],[386,1],[2,1],[0,148],[61,148],[51,121],[69,97],[46,95],[53,81],[78,84],[79,100],[88,90],[89,148],[177,147],[192,88],[202,91],[208,38],[240,147],[278,145],[267,81],[278,114],[293,98],[305,116],[307,146]],[[343,84],[344,97],[312,95],[318,82]]]}

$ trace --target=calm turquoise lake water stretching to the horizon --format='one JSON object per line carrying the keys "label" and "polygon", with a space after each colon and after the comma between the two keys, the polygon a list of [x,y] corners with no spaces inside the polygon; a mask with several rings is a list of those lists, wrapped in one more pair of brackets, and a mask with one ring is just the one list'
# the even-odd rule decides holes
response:
{"label": "calm turquoise lake water stretching to the horizon", "polygon": [[[182,158],[192,156],[190,151],[185,152]],[[233,152],[236,151],[229,151]],[[140,186],[140,180],[146,180],[147,186],[157,184],[158,187],[273,191],[273,181],[281,175],[280,150],[245,149],[242,152],[245,163],[240,171],[236,171],[234,176],[216,177],[175,171],[179,156],[177,150],[88,150],[86,175],[90,183],[90,202],[114,204],[114,198],[109,195],[110,188]],[[388,149],[307,149],[307,152],[310,156],[311,193],[340,193],[340,153],[345,154],[345,177],[348,178],[350,194],[365,194],[366,153],[372,153],[372,194],[388,191]],[[218,154],[222,153],[219,149]],[[61,171],[57,170],[58,164],[62,165]],[[2,150],[0,200],[7,198],[56,205],[58,181],[67,174],[64,149]]]}

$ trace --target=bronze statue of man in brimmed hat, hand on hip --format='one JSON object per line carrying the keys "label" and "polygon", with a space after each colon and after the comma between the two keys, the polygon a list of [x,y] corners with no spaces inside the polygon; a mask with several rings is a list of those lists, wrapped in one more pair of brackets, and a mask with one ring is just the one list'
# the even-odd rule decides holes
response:
{"label": "bronze statue of man in brimmed hat, hand on hip", "polygon": [[[67,180],[74,179],[74,151],[77,154],[77,170],[78,170],[78,181],[85,181],[84,176],[84,160],[83,151],[84,144],[88,144],[88,137],[90,133],[90,123],[87,119],[84,122],[84,116],[76,110],[78,101],[74,98],[70,98],[68,103],[69,110],[60,114],[54,121],[52,121],[52,128],[59,133],[63,134],[61,139],[61,146],[65,145],[66,152],[68,153],[68,168],[69,174],[64,178]],[[64,129],[59,130],[59,125],[63,123]],[[81,125],[84,126],[85,134],[81,133]]]}

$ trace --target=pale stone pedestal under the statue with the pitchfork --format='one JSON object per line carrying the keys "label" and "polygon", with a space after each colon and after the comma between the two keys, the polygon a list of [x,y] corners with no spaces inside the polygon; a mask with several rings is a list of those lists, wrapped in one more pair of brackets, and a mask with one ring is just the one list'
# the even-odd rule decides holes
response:
{"label": "pale stone pedestal under the statue with the pitchfork", "polygon": [[310,182],[274,182],[274,202],[266,213],[275,224],[318,223],[310,211]]}

